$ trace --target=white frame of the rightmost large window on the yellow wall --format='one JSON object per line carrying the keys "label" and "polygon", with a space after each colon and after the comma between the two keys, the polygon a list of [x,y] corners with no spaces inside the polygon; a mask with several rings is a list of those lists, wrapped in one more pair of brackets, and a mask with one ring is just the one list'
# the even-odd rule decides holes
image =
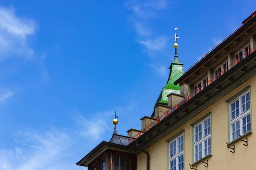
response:
{"label": "white frame of the rightmost large window on the yellow wall", "polygon": [[[247,108],[247,106],[246,106],[246,103],[248,102],[248,100],[246,100],[246,94],[248,94],[249,93],[249,109],[247,109],[246,111],[244,111],[244,112],[242,112],[242,105],[244,105],[244,104],[242,104],[242,97],[243,96],[245,96],[245,107]],[[250,97],[250,90],[248,90],[248,91],[246,91],[246,92],[244,92],[243,94],[241,94],[241,95],[239,95],[238,97],[236,97],[236,99],[233,99],[231,102],[229,102],[229,117],[230,117],[230,142],[232,142],[232,141],[234,141],[234,140],[236,140],[236,139],[238,139],[239,138],[239,135],[241,135],[241,136],[243,136],[244,134],[246,134],[246,133],[249,133],[249,132],[251,132],[251,130],[252,130],[252,120],[251,120],[251,97]],[[239,102],[239,115],[238,116],[236,116],[236,112],[235,112],[235,118],[232,118],[232,104],[234,104],[235,102]],[[236,103],[235,103],[235,110],[236,110],[237,108],[236,108]],[[246,133],[243,133],[243,127],[244,127],[244,125],[243,125],[243,119],[244,119],[244,117],[246,117],[246,125],[248,124],[248,122],[247,122],[247,116],[248,115],[250,115],[250,122],[249,122],[249,124],[250,124],[250,130],[248,130],[247,129],[247,126],[246,126]],[[234,123],[236,123],[236,122],[239,122],[239,135],[238,134],[236,134],[236,138],[235,139],[233,139],[233,132],[235,132],[235,131],[233,131],[233,129],[232,129],[232,125],[234,124]],[[238,129],[236,129],[236,131],[237,131]]]}

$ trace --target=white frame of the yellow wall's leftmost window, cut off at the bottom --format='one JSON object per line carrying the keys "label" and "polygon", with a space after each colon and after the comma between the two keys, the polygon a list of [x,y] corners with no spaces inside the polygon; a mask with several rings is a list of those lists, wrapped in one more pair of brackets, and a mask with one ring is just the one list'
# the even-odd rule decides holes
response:
{"label": "white frame of the yellow wall's leftmost window, cut off at the bottom", "polygon": [[[181,141],[181,138],[183,137],[183,142]],[[180,144],[178,143],[178,140],[180,139]],[[175,142],[176,152],[175,155],[171,156],[171,144]],[[183,145],[183,150],[182,150]],[[180,146],[180,151],[178,151],[178,148]],[[183,161],[181,160],[183,156]],[[179,163],[179,157],[180,157],[180,163]],[[179,136],[175,137],[175,139],[172,139],[169,142],[169,170],[171,170],[171,161],[175,161],[175,170],[184,170],[184,133],[180,134]],[[183,169],[182,169],[182,163],[183,163]],[[180,169],[179,169],[179,164]]]}

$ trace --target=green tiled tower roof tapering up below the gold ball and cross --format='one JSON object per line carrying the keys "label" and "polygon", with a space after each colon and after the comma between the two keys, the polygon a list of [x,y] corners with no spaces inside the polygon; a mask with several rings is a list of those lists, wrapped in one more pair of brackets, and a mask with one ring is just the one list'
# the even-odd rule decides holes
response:
{"label": "green tiled tower roof tapering up below the gold ball and cross", "polygon": [[171,94],[171,93],[180,94],[180,86],[173,84],[178,78],[180,78],[183,75],[183,63],[181,63],[180,60],[178,59],[177,48],[175,48],[174,61],[172,62],[169,69],[170,69],[170,73],[169,73],[168,81],[166,83],[166,86],[164,86],[163,90],[161,91],[155,105],[167,104],[168,94]]}

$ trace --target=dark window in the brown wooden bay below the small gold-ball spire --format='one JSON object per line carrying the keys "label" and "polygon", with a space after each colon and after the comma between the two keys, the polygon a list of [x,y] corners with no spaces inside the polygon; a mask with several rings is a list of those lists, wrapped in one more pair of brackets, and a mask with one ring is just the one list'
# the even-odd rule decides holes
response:
{"label": "dark window in the brown wooden bay below the small gold-ball spire", "polygon": [[131,170],[131,159],[114,156],[114,170]]}

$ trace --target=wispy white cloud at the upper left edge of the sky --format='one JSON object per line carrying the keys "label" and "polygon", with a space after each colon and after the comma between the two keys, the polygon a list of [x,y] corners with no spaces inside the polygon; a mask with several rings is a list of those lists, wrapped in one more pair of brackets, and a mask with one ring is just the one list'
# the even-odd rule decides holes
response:
{"label": "wispy white cloud at the upper left edge of the sky", "polygon": [[42,76],[49,79],[45,54],[36,54],[29,44],[37,28],[34,20],[17,16],[14,8],[0,6],[0,62],[14,57],[30,60],[38,64]]}

